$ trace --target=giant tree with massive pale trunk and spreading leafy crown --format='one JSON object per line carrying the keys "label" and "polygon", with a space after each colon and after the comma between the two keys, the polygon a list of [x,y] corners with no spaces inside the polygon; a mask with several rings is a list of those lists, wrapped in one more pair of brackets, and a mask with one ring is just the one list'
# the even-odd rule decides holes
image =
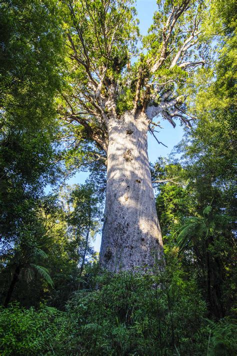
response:
{"label": "giant tree with massive pale trunk and spreading leafy crown", "polygon": [[[204,64],[202,1],[158,1],[146,54],[135,48],[132,0],[66,1],[67,90],[59,109],[79,140],[106,156],[100,263],[111,271],[152,268],[163,246],[147,156],[147,131],[161,115],[189,124],[181,89]],[[130,60],[137,54],[137,61]],[[77,126],[78,125],[78,126]]]}

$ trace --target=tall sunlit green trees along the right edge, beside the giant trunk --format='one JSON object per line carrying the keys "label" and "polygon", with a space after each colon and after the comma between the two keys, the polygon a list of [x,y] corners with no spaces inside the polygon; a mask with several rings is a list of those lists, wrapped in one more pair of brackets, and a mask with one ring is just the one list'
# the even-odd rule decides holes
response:
{"label": "tall sunlit green trees along the right edge, beside the giant trunk", "polygon": [[178,164],[173,157],[159,159],[153,168],[166,251],[185,249],[179,255],[182,265],[196,277],[209,313],[218,318],[234,305],[236,278],[236,241],[228,217],[236,215],[234,7],[231,0],[211,1],[206,28],[215,34],[215,60],[198,70],[189,96],[198,120],[178,145]]}

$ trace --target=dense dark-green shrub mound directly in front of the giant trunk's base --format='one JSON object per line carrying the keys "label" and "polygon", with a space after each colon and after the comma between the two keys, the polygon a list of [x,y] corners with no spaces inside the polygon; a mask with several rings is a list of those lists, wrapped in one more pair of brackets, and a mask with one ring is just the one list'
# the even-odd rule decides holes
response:
{"label": "dense dark-green shrub mound directly in front of the giant trunk's base", "polygon": [[98,290],[78,292],[67,306],[81,354],[201,355],[207,349],[205,304],[193,281],[121,273],[98,282]]}

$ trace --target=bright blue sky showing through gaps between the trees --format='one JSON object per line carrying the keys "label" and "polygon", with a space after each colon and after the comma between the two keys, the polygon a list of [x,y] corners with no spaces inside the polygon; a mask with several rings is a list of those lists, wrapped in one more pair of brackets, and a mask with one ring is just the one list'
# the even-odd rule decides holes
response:
{"label": "bright blue sky showing through gaps between the trees", "polygon": [[[139,27],[142,35],[147,33],[149,26],[152,23],[153,13],[156,10],[156,0],[137,0],[136,9],[139,19]],[[157,134],[159,141],[162,141],[166,146],[158,144],[157,141],[148,134],[148,156],[150,162],[154,162],[158,156],[168,156],[174,145],[176,145],[182,138],[183,130],[176,120],[176,127],[173,128],[168,121],[161,120],[160,125],[162,129],[158,129],[160,132]],[[87,178],[88,173],[79,172],[73,177],[68,179],[68,184],[82,184]],[[96,251],[99,251],[100,247],[100,235],[97,235],[93,242],[93,247]]]}

